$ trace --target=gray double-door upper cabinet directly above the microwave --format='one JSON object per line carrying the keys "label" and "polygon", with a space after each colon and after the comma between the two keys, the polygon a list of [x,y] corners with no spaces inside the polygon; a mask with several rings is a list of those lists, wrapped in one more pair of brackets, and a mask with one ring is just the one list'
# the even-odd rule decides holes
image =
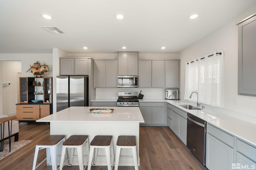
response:
{"label": "gray double-door upper cabinet directly above the microwave", "polygon": [[138,52],[118,52],[118,75],[138,75]]}

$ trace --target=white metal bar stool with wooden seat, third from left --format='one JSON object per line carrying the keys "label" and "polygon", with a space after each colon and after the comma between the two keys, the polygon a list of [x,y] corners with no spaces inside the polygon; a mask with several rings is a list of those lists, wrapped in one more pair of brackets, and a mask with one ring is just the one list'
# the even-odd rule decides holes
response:
{"label": "white metal bar stool with wooden seat, third from left", "polygon": [[[88,160],[88,170],[91,169],[90,165],[92,165],[93,154],[94,154],[93,166],[95,166],[96,159],[97,159],[97,154],[98,154],[98,148],[104,148],[105,149],[108,170],[112,170],[114,162],[115,162],[114,145],[113,145],[112,136],[95,136],[94,137],[94,139],[90,143],[90,154],[89,154],[89,160]],[[113,164],[111,163],[112,162],[111,155],[113,156]]]}

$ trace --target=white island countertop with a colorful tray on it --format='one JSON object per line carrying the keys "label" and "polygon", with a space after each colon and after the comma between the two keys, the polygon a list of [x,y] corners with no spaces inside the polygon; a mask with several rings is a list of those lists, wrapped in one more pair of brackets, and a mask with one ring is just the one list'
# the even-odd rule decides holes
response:
{"label": "white island countertop with a colorful tray on it", "polygon": [[139,107],[104,107],[112,113],[91,113],[96,107],[68,107],[57,113],[38,119],[37,122],[138,122],[144,123]]}

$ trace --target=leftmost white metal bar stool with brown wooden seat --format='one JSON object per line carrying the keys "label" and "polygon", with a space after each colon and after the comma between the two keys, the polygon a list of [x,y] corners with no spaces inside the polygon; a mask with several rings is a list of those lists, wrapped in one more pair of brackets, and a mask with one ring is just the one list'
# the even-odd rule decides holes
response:
{"label": "leftmost white metal bar stool with brown wooden seat", "polygon": [[[52,160],[52,170],[57,170],[57,147],[60,143],[65,141],[64,135],[50,135],[42,139],[36,144],[36,150],[33,161],[32,170],[36,169],[40,164],[42,164],[46,160],[47,166],[50,164],[50,160]],[[36,160],[38,156],[38,151],[46,148],[46,158],[36,166]]]}

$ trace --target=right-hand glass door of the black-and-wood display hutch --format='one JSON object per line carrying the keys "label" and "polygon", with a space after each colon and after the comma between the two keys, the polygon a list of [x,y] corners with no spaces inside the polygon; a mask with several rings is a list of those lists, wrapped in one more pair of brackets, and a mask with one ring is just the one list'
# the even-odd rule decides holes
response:
{"label": "right-hand glass door of the black-and-wood display hutch", "polygon": [[52,103],[52,77],[44,77],[44,103]]}

